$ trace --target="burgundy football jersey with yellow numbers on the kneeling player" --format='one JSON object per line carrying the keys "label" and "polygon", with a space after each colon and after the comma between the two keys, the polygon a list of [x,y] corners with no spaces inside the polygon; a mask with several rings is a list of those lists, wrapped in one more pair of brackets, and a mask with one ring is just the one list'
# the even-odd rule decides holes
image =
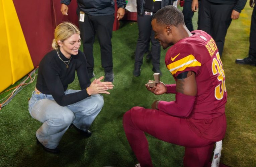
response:
{"label": "burgundy football jersey with yellow numbers on the kneeling player", "polygon": [[167,51],[165,64],[175,79],[181,72],[195,72],[197,95],[190,118],[216,118],[225,112],[227,102],[220,54],[214,39],[206,32],[191,33],[192,36],[179,40]]}

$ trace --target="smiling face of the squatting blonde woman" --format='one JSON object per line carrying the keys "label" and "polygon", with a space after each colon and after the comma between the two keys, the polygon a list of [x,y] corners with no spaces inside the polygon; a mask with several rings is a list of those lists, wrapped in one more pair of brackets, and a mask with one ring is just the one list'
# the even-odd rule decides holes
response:
{"label": "smiling face of the squatting blonde woman", "polygon": [[[59,43],[59,41],[58,41]],[[71,55],[78,54],[78,49],[81,45],[81,38],[79,34],[73,34],[65,41],[59,43],[60,50],[65,57],[70,58]]]}

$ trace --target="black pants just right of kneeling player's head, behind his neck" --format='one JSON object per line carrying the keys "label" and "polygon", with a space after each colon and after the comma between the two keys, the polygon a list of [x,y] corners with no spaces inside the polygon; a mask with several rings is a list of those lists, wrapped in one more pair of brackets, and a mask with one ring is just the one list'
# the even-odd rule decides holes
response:
{"label": "black pants just right of kneeling player's head, behind his neck", "polygon": [[[184,15],[184,22],[189,31],[193,31],[193,23],[192,23],[192,17],[194,15],[194,12],[191,9],[192,0],[185,0],[182,13]],[[200,9],[200,1],[198,1],[198,8]],[[199,23],[200,17],[199,17],[199,10],[198,10],[198,21],[197,25]],[[198,25],[199,26],[199,25]]]}

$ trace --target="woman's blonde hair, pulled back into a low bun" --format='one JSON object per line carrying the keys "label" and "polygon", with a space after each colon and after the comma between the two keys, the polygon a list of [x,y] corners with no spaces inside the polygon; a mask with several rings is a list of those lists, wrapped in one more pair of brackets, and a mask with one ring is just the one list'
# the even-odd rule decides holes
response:
{"label": "woman's blonde hair, pulled back into a low bun", "polygon": [[60,23],[55,28],[54,39],[53,39],[53,43],[52,43],[53,49],[56,50],[60,47],[58,44],[58,40],[61,40],[63,42],[74,34],[80,34],[80,31],[76,25],[74,25],[73,23],[70,23],[70,22]]}

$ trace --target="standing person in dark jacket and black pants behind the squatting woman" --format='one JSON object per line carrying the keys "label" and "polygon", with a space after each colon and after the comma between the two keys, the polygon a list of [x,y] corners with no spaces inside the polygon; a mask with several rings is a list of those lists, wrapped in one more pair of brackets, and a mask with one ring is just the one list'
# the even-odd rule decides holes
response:
{"label": "standing person in dark jacket and black pants behind the squatting woman", "polygon": [[[71,0],[61,0],[61,12],[68,15],[68,6]],[[121,19],[125,13],[125,0],[116,0],[117,18]],[[115,1],[114,0],[77,0],[78,20],[81,30],[84,54],[87,59],[89,77],[95,76],[93,72],[93,43],[97,34],[100,44],[101,65],[105,71],[104,81],[113,82],[112,60],[112,30],[114,23]]]}

